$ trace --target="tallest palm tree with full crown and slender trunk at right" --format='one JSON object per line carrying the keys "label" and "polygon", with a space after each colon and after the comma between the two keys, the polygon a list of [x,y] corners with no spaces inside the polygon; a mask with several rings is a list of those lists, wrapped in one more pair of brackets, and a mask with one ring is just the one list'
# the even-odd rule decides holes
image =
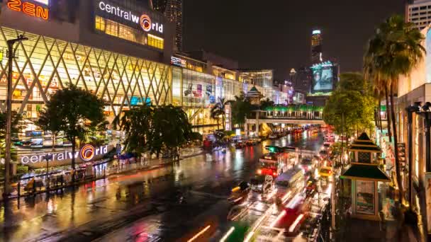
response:
{"label": "tallest palm tree with full crown and slender trunk at right", "polygon": [[[366,66],[371,66],[375,73],[379,74],[384,80],[379,86],[384,88],[386,93],[389,87],[395,151],[398,151],[398,137],[393,96],[395,88],[398,86],[398,76],[409,74],[415,64],[418,64],[422,59],[422,53],[425,52],[425,48],[421,45],[423,39],[423,35],[412,23],[405,23],[402,16],[391,16],[379,25],[376,34],[369,40],[368,50],[364,57]],[[399,197],[402,200],[403,185],[401,184],[398,152],[394,153],[396,180]]]}

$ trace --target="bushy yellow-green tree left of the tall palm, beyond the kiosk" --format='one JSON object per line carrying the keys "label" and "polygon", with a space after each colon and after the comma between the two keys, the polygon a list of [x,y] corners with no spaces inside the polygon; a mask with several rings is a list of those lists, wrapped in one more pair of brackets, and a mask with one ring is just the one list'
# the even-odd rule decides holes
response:
{"label": "bushy yellow-green tree left of the tall palm, beyond the kiosk", "polygon": [[347,135],[373,127],[375,100],[364,88],[358,88],[362,86],[366,90],[363,83],[360,74],[342,74],[339,86],[326,103],[323,120],[328,125],[333,125],[337,134],[341,134],[342,130],[342,113],[345,117],[343,128]]}

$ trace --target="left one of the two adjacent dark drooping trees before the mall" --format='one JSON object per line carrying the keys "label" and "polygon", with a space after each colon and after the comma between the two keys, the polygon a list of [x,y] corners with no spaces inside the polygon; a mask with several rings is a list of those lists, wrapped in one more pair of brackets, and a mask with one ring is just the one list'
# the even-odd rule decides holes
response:
{"label": "left one of the two adjacent dark drooping trees before the mall", "polygon": [[147,150],[148,137],[154,110],[147,105],[134,107],[118,114],[113,120],[114,127],[125,132],[123,150],[138,157]]}

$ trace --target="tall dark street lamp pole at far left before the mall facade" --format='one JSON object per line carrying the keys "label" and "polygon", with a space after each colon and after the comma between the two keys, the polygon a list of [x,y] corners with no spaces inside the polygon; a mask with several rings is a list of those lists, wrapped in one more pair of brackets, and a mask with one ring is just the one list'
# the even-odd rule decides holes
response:
{"label": "tall dark street lamp pole at far left before the mall facade", "polygon": [[24,35],[18,35],[18,38],[7,40],[8,45],[8,91],[6,97],[6,159],[4,162],[4,197],[6,198],[10,192],[10,172],[11,172],[11,128],[12,128],[12,74],[13,74],[13,59],[15,58],[15,49],[13,45],[16,42],[28,40]]}

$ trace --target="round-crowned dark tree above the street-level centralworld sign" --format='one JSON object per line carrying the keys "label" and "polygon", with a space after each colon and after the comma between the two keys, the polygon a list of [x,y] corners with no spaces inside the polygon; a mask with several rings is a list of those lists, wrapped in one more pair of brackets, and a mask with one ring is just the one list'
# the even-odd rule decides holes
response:
{"label": "round-crowned dark tree above the street-level centralworld sign", "polygon": [[[77,140],[84,140],[89,129],[105,121],[103,107],[103,100],[72,84],[54,93],[47,102],[38,122],[63,132],[72,143],[72,169],[75,169]],[[52,120],[47,122],[46,118]]]}

